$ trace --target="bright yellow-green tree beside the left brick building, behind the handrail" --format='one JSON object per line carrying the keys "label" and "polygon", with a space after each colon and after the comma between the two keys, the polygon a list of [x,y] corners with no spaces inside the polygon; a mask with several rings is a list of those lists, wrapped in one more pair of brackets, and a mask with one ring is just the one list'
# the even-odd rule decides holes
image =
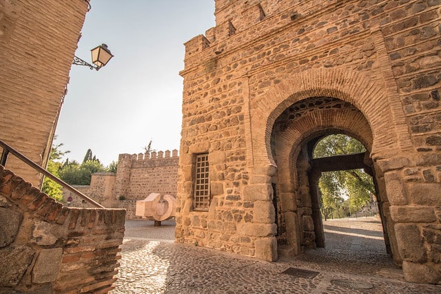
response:
{"label": "bright yellow-green tree beside the left brick building, behind the handrail", "polygon": [[[59,177],[59,170],[61,169],[61,162],[57,161],[63,158],[65,154],[68,154],[70,151],[62,151],[61,147],[63,144],[52,145],[52,149],[50,150],[50,156],[48,161],[48,167],[46,170],[49,171],[54,176]],[[43,180],[43,187],[41,187],[41,191],[48,194],[48,196],[54,198],[57,201],[63,200],[63,187],[58,185],[56,182],[51,180],[48,177],[45,177]]]}

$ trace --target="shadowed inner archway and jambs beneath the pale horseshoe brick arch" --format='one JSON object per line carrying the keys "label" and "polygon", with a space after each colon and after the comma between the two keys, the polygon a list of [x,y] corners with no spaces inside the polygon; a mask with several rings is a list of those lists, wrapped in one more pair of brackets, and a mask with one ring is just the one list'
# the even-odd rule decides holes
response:
{"label": "shadowed inner archway and jambs beneath the pale horseshoe brick arch", "polygon": [[[285,251],[294,255],[300,253],[302,246],[308,246],[308,242],[324,246],[316,180],[321,171],[330,168],[314,169],[310,146],[318,138],[336,133],[347,134],[365,145],[367,154],[358,154],[362,157],[358,161],[363,162],[360,167],[373,174],[373,162],[369,157],[373,146],[371,128],[365,116],[351,103],[337,98],[312,97],[290,105],[274,122],[271,156],[277,166],[274,182],[280,203],[278,223],[284,226],[279,230],[283,233],[278,236],[278,244],[285,244]],[[369,162],[369,166],[364,162]],[[376,177],[376,182],[381,181],[382,178]],[[378,199],[380,207],[387,202],[384,190],[379,190]],[[399,263],[393,221],[389,213],[381,215],[388,251]]]}

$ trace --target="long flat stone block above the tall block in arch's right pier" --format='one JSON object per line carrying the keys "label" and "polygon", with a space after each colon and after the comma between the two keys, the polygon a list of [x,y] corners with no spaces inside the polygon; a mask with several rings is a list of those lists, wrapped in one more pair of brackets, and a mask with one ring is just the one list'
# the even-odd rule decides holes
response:
{"label": "long flat stone block above the tall block in arch's right pier", "polygon": [[433,207],[424,206],[391,206],[391,218],[394,222],[435,222]]}

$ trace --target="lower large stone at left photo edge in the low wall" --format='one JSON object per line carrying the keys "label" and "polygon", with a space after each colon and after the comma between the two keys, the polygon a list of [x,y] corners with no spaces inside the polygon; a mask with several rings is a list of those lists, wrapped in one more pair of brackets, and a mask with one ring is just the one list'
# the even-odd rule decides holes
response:
{"label": "lower large stone at left photo edge in the low wall", "polygon": [[34,250],[28,246],[10,246],[6,249],[1,249],[0,285],[15,286],[19,284],[32,262],[34,253]]}

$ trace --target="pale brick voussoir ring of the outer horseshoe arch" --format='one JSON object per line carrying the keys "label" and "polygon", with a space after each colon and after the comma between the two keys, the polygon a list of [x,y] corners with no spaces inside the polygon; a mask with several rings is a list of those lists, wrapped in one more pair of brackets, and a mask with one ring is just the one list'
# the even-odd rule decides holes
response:
{"label": "pale brick voussoir ring of the outer horseshoe arch", "polygon": [[393,152],[400,146],[397,123],[393,121],[397,116],[389,107],[384,85],[348,68],[320,68],[293,74],[251,102],[251,125],[262,125],[262,121],[266,121],[265,127],[252,131],[255,166],[275,165],[270,137],[276,118],[290,105],[316,96],[338,98],[362,112],[372,130],[373,158]]}

